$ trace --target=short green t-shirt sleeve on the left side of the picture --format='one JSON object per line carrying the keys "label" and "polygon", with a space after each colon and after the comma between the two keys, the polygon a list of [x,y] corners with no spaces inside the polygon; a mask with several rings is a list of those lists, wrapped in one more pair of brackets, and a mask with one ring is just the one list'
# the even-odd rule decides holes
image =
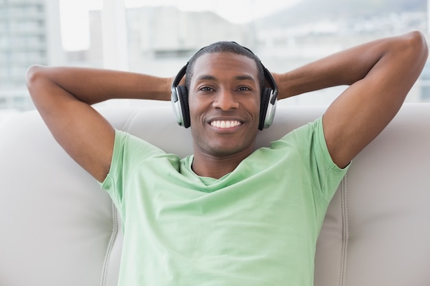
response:
{"label": "short green t-shirt sleeve on the left side of the picture", "polygon": [[157,147],[137,138],[127,132],[115,130],[115,142],[109,174],[100,187],[111,196],[115,205],[120,208],[124,197],[124,190],[128,182],[128,175],[135,167],[150,156],[163,153]]}

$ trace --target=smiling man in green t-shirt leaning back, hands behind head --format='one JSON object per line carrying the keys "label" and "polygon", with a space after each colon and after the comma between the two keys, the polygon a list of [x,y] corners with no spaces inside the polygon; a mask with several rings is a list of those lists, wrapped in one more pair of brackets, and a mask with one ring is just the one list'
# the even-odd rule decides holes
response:
{"label": "smiling man in green t-shirt leaning back, hands behind head", "polygon": [[315,243],[350,161],[387,126],[427,59],[422,34],[383,38],[283,74],[278,98],[347,84],[321,119],[255,150],[264,78],[236,44],[197,53],[185,75],[194,154],[114,130],[91,108],[170,100],[172,78],[31,67],[56,140],[109,192],[124,222],[120,285],[313,285]]}

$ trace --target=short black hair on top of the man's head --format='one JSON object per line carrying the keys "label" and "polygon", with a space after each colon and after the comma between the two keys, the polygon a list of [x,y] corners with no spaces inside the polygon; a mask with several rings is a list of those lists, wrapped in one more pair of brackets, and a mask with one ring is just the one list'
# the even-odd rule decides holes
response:
{"label": "short black hair on top of the man's head", "polygon": [[194,74],[194,65],[196,64],[196,60],[201,56],[205,55],[206,53],[223,53],[223,52],[236,53],[238,55],[246,56],[247,58],[250,58],[251,60],[256,62],[257,73],[258,73],[258,83],[260,84],[260,91],[262,92],[265,85],[264,70],[258,56],[256,56],[247,47],[243,47],[236,42],[227,42],[227,41],[220,41],[220,42],[213,43],[212,45],[209,45],[207,47],[203,47],[202,49],[197,51],[194,54],[194,56],[190,58],[190,60],[188,60],[187,71],[185,73],[185,86],[187,86],[188,91],[190,90],[190,83],[191,83],[192,76]]}

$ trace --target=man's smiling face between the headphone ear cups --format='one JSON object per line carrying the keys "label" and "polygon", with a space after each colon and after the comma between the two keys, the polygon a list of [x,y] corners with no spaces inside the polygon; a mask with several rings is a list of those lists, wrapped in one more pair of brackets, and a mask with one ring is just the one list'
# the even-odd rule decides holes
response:
{"label": "man's smiling face between the headphone ear cups", "polygon": [[253,152],[260,118],[256,62],[236,53],[207,53],[189,88],[194,152],[225,158]]}

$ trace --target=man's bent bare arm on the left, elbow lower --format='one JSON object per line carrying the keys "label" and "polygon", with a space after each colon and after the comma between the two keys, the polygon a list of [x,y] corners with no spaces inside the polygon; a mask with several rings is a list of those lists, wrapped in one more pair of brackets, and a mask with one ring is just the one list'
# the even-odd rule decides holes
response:
{"label": "man's bent bare arm on the left, elbow lower", "polygon": [[170,100],[171,78],[76,67],[33,66],[27,87],[54,138],[98,181],[109,172],[115,132],[91,104],[113,98]]}

